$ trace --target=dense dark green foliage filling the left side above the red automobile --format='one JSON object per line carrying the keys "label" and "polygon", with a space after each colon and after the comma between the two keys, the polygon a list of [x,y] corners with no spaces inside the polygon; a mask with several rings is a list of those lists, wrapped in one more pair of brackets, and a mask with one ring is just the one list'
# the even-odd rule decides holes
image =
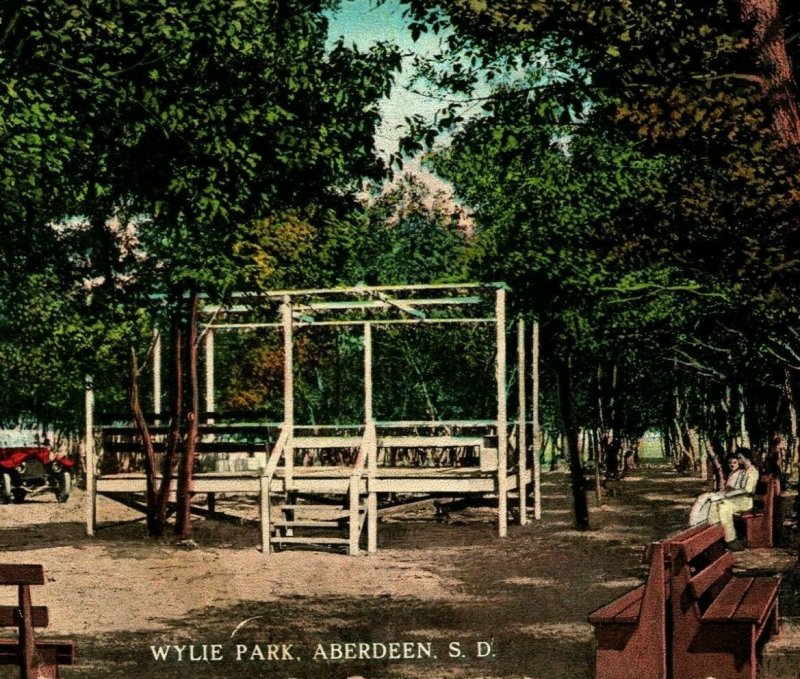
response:
{"label": "dense dark green foliage filling the left side above the red automobile", "polygon": [[[119,360],[129,343],[144,352],[142,311],[179,322],[187,290],[294,285],[309,254],[340,275],[352,195],[386,171],[377,103],[400,56],[384,43],[327,48],[334,6],[37,0],[2,10],[3,314],[21,333],[8,340],[21,360],[36,335],[14,291],[48,267],[63,278],[43,296],[63,291],[82,316],[57,314],[51,329],[74,348],[82,328],[100,330],[94,355],[74,352],[72,364],[53,347],[49,365],[28,364],[30,379],[50,370],[80,385],[102,369],[98,356]],[[82,228],[50,225],[74,216]]]}

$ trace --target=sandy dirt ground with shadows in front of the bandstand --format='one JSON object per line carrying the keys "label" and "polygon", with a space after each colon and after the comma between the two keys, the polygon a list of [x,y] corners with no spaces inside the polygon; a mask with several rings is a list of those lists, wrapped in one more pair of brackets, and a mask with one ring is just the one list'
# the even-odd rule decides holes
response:
{"label": "sandy dirt ground with shadows in front of the bandstand", "polygon": [[438,523],[423,507],[381,523],[379,553],[356,558],[264,557],[257,527],[205,519],[194,549],[154,543],[107,499],[89,538],[77,490],[65,505],[48,494],[0,506],[0,561],[44,565],[33,600],[50,610],[46,636],[77,642],[66,679],[588,679],[587,615],[640,582],[643,546],[683,527],[701,485],[641,470],[602,507],[590,496],[592,529],[579,532],[567,476],[553,472],[542,520],[507,539],[490,508]]}

